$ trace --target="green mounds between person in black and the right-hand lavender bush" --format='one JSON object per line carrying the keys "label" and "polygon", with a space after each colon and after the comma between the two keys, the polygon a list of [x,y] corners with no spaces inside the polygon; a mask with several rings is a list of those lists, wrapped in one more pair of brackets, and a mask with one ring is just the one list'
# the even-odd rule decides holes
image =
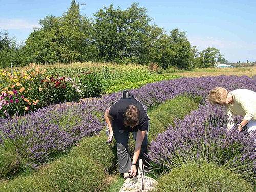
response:
{"label": "green mounds between person in black and the right-hand lavender bush", "polygon": [[197,109],[198,104],[187,97],[178,96],[159,105],[148,113],[150,116],[150,133],[148,139],[154,140],[159,133],[166,130],[169,124],[174,125],[174,119],[183,119],[192,110]]}

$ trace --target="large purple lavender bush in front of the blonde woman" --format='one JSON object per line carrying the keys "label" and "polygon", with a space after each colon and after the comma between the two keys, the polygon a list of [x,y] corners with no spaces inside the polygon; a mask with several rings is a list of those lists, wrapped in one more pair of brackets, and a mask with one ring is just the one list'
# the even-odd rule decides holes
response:
{"label": "large purple lavender bush in front of the blonde woman", "polygon": [[[238,122],[241,121],[237,117]],[[221,106],[201,105],[176,126],[159,134],[151,143],[149,156],[167,169],[188,163],[209,162],[225,166],[253,181],[256,171],[256,131],[227,132]]]}

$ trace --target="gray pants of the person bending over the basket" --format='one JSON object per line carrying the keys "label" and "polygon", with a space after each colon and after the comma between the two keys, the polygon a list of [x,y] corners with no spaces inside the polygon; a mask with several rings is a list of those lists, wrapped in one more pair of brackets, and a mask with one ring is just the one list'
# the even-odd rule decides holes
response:
{"label": "gray pants of the person bending over the basket", "polygon": [[[113,129],[114,138],[117,142],[117,160],[118,168],[120,173],[127,173],[132,166],[131,157],[128,154],[128,140],[129,140],[129,131],[119,130],[117,128]],[[148,133],[148,130],[147,130]],[[132,132],[133,139],[136,140],[137,132]],[[146,159],[145,154],[147,154],[147,134],[141,144],[141,151],[139,159]],[[138,161],[137,161],[138,162]]]}

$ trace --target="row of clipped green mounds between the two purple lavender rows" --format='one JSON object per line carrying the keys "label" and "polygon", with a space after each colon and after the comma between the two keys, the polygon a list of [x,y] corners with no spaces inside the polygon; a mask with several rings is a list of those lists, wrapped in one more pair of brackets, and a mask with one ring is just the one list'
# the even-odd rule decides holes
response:
{"label": "row of clipped green mounds between the two purple lavender rows", "polygon": [[[188,109],[184,108],[183,106],[186,105],[186,103],[190,103],[190,110],[195,109],[197,107],[197,104],[191,101],[188,98],[185,97],[177,97],[175,99],[166,101],[164,104],[160,105],[160,108],[162,109],[162,112],[165,112],[167,110],[167,107],[172,107],[173,110],[177,107],[175,103],[180,103],[179,110],[177,110],[175,113],[172,114],[172,118],[182,118],[185,113],[188,113]],[[150,111],[148,114],[150,118],[153,118],[153,115],[156,113],[158,109]],[[158,110],[159,111],[159,110]],[[174,112],[174,111],[173,111]],[[155,117],[157,118],[157,117]],[[160,119],[158,119],[160,120]],[[164,123],[164,125],[167,125],[167,122]],[[160,130],[156,126],[156,124],[151,123],[151,131],[154,131],[155,133],[159,133]],[[150,132],[151,134],[152,132]],[[102,187],[104,184],[104,180],[101,178],[106,176],[101,169],[103,167],[103,170],[105,171],[111,171],[113,170],[113,165],[116,165],[116,147],[115,145],[111,144],[110,146],[105,145],[106,142],[106,136],[104,133],[104,130],[100,132],[99,135],[95,135],[93,137],[86,137],[83,138],[75,147],[72,147],[69,151],[67,157],[63,157],[60,160],[55,160],[53,163],[49,163],[48,165],[42,166],[42,168],[39,169],[38,172],[35,172],[32,176],[29,177],[20,177],[17,179],[14,179],[10,182],[2,183],[0,184],[0,190],[3,191],[19,191],[19,190],[26,190],[26,191],[47,191],[47,190],[66,190],[66,191],[80,191],[80,190],[86,190],[86,191],[93,191],[91,190],[92,187],[95,187],[95,189],[98,189],[97,191],[101,191],[102,189],[106,189],[106,185]],[[86,156],[86,157],[84,157]],[[52,169],[52,167],[55,167],[56,164],[58,164],[58,167],[63,167],[63,169],[67,166],[69,166],[69,159],[77,161],[77,158],[80,160],[80,158],[83,158],[83,161],[87,161],[88,158],[91,159],[88,161],[88,163],[91,164],[91,166],[94,166],[95,169],[100,166],[101,168],[96,173],[98,174],[100,180],[95,183],[94,185],[89,187],[90,184],[90,178],[87,180],[86,177],[90,177],[90,175],[83,175],[82,179],[86,180],[86,183],[82,184],[79,181],[75,181],[75,178],[73,177],[73,174],[76,174],[76,172],[72,171],[71,169],[67,169],[65,172],[60,172],[57,169]],[[85,159],[84,159],[85,158]],[[47,166],[47,170],[45,167]],[[74,167],[73,167],[74,166]],[[79,167],[76,167],[77,165],[72,165],[72,168],[76,171]],[[79,165],[80,166],[80,165]],[[81,167],[80,167],[81,168]],[[86,167],[84,167],[86,168]],[[82,168],[82,171],[83,169]],[[63,178],[57,178],[58,181],[56,181],[55,177],[52,177],[52,175],[55,174],[68,174],[68,171],[70,171],[70,177],[63,177]],[[88,170],[88,172],[91,170]],[[95,173],[95,170],[94,172]],[[46,180],[47,178],[47,180]],[[40,181],[40,182],[38,182]],[[73,185],[76,186],[76,188],[71,186],[71,182],[73,182]],[[30,184],[28,184],[30,183]],[[62,184],[61,184],[62,183]],[[61,186],[60,186],[61,184]],[[88,185],[87,185],[88,184]],[[85,188],[86,187],[86,188]]]}

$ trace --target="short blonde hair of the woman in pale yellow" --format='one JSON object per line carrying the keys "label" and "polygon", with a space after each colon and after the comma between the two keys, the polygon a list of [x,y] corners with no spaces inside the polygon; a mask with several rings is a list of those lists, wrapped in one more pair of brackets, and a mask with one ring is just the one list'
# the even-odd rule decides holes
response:
{"label": "short blonde hair of the woman in pale yellow", "polygon": [[208,95],[208,100],[211,104],[221,104],[225,103],[227,100],[228,91],[222,87],[216,87],[210,91]]}

